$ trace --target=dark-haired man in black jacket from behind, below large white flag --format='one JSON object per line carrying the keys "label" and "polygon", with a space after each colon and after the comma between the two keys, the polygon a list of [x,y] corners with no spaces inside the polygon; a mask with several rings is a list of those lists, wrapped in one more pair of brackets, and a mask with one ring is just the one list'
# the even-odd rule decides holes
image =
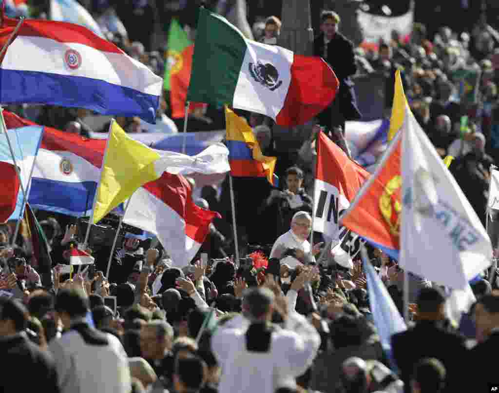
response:
{"label": "dark-haired man in black jacket from behind, below large white flag", "polygon": [[446,369],[446,389],[457,392],[468,374],[465,370],[467,349],[464,338],[444,328],[445,297],[438,288],[423,288],[417,300],[417,323],[409,330],[392,336],[392,355],[410,392],[414,365],[423,358],[435,358]]}

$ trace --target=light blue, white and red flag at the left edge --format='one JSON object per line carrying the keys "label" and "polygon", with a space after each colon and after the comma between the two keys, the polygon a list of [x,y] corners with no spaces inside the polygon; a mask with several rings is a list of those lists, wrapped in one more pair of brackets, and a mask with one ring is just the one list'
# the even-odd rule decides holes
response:
{"label": "light blue, white and red flag at the left edge", "polygon": [[1,213],[3,213],[0,216],[2,222],[7,219],[17,220],[19,217],[22,217],[24,213],[23,194],[19,185],[22,184],[24,191],[29,195],[31,184],[30,175],[43,135],[43,127],[29,126],[3,131],[8,133],[10,145],[15,157],[15,163],[19,168],[21,183],[19,183],[17,178],[7,138],[4,132],[2,132],[0,133],[0,167],[2,168],[0,176],[2,184],[5,185],[4,188],[9,188],[8,190],[4,189],[1,192],[2,196],[5,198],[1,201],[0,205]]}

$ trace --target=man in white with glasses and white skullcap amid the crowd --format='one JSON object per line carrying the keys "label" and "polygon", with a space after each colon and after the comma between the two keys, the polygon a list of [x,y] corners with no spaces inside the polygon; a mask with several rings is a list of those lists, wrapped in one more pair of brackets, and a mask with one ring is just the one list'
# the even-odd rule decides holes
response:
{"label": "man in white with glasses and white skullcap amid the crowd", "polygon": [[311,247],[308,236],[312,229],[312,217],[308,212],[299,211],[291,219],[291,229],[279,236],[272,246],[270,258],[278,258],[291,269],[298,265],[315,262],[323,243]]}

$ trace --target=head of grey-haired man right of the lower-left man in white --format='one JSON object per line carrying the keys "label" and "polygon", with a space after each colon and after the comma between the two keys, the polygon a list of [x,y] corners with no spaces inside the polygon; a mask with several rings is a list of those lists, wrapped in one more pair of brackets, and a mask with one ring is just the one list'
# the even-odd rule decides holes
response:
{"label": "head of grey-haired man right of the lower-left man in white", "polygon": [[161,320],[150,321],[140,329],[140,351],[148,360],[162,360],[172,350],[173,328]]}

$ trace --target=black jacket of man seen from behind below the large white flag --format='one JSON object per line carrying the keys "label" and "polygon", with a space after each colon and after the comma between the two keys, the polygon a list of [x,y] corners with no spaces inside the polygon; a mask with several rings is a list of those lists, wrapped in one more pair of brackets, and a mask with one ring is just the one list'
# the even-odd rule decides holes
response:
{"label": "black jacket of man seen from behind below the large white flag", "polygon": [[468,351],[462,336],[445,330],[438,322],[420,321],[413,328],[392,336],[392,355],[410,392],[410,378],[416,363],[423,358],[436,358],[446,369],[444,392],[461,391],[469,378],[466,372]]}

